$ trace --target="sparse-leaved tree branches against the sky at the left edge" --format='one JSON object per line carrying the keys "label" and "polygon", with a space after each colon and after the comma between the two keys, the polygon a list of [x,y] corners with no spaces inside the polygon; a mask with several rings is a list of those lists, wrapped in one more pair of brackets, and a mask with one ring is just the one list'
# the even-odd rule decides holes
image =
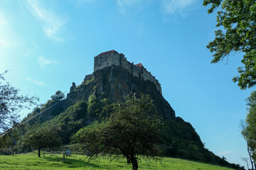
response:
{"label": "sparse-leaved tree branches against the sky at the left edge", "polygon": [[18,112],[38,101],[36,97],[19,95],[19,90],[4,79],[6,72],[0,74],[0,132],[5,132],[16,125],[19,121]]}

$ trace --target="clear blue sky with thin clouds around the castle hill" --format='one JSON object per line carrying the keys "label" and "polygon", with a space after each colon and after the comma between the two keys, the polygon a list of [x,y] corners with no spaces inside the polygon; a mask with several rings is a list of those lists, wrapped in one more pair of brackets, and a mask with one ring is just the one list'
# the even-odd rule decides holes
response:
{"label": "clear blue sky with thin clouds around the castle hill", "polygon": [[207,9],[200,0],[0,0],[0,72],[10,69],[6,79],[21,94],[45,103],[81,84],[93,57],[117,50],[159,79],[176,116],[210,151],[244,165],[238,126],[252,89],[232,81],[242,54],[210,64],[216,16]]}

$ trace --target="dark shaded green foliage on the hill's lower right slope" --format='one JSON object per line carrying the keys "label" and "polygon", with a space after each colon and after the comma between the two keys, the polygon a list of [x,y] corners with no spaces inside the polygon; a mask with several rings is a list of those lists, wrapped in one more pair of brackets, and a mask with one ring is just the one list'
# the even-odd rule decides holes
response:
{"label": "dark shaded green foliage on the hill's lower right slope", "polygon": [[217,157],[213,152],[208,151],[201,142],[200,137],[190,123],[181,118],[174,121],[164,121],[161,130],[162,142],[159,145],[167,157],[219,164],[233,169],[243,169],[239,165],[229,164],[227,161]]}

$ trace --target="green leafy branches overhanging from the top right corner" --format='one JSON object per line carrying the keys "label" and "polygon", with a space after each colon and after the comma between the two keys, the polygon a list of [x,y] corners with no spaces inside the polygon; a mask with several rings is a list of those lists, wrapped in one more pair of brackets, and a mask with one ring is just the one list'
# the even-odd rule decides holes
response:
{"label": "green leafy branches overhanging from the top right corner", "polygon": [[233,52],[242,52],[243,67],[238,67],[240,89],[256,84],[256,1],[254,0],[204,0],[203,5],[211,4],[208,13],[221,6],[217,15],[218,30],[215,40],[209,42],[208,49],[213,52],[212,63],[217,63]]}

